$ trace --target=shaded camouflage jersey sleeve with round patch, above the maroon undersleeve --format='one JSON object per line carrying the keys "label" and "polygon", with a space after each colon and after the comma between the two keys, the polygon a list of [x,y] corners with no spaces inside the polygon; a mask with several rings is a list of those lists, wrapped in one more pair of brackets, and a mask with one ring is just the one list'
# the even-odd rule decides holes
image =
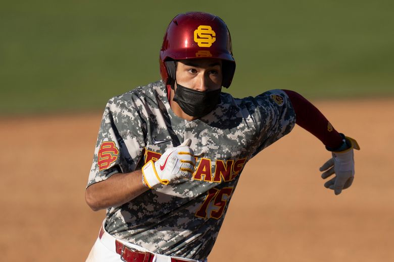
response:
{"label": "shaded camouflage jersey sleeve with round patch, above the maroon undersleeve", "polygon": [[252,157],[290,133],[295,125],[291,102],[282,90],[270,90],[255,97],[260,117],[258,143]]}

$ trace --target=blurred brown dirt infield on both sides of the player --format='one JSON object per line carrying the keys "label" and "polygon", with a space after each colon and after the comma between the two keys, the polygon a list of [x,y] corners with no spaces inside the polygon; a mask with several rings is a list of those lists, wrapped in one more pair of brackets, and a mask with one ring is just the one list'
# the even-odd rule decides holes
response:
{"label": "blurred brown dirt infield on both sides of the player", "polygon": [[[394,100],[316,102],[356,138],[356,178],[335,196],[330,154],[298,126],[245,167],[214,261],[394,261]],[[101,112],[0,119],[0,260],[84,261],[105,211],[84,190]]]}

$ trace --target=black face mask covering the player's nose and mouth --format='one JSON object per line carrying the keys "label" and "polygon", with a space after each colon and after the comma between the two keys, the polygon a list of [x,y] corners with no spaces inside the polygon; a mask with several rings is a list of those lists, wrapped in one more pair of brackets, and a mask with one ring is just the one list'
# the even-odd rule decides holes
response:
{"label": "black face mask covering the player's nose and mouth", "polygon": [[186,114],[202,117],[211,112],[220,103],[221,88],[214,91],[202,92],[176,84],[174,101]]}

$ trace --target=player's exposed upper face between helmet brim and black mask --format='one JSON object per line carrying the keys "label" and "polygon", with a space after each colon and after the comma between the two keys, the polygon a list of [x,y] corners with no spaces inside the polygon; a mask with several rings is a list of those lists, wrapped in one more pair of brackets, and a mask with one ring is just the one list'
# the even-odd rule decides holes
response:
{"label": "player's exposed upper face between helmet brim and black mask", "polygon": [[213,91],[222,86],[222,60],[213,58],[179,60],[176,82],[198,91]]}

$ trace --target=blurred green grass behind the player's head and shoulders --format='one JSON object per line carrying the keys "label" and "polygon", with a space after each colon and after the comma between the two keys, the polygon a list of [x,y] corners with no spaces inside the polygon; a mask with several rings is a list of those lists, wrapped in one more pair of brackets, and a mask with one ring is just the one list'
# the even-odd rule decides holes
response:
{"label": "blurred green grass behind the player's head and shoulders", "polygon": [[394,95],[392,1],[9,1],[0,9],[0,115],[102,110],[160,79],[165,29],[205,11],[228,25],[234,96]]}

